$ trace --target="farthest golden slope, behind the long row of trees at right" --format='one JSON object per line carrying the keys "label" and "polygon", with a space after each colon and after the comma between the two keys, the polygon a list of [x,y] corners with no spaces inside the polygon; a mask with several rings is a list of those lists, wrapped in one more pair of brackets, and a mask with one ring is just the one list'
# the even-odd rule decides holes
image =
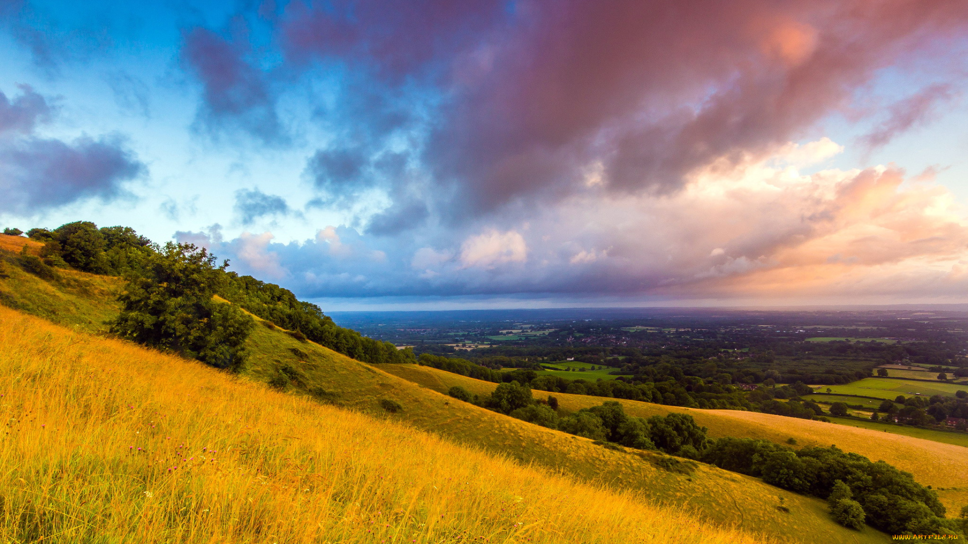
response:
{"label": "farthest golden slope, behind the long row of trees at right", "polygon": [[[460,385],[482,395],[489,394],[497,386],[489,381],[431,367],[383,365],[381,368],[438,391]],[[537,397],[548,393],[534,391],[534,395]],[[784,444],[789,438],[794,438],[800,446],[836,445],[845,451],[859,453],[871,461],[885,461],[896,468],[911,472],[918,482],[938,490],[938,496],[948,507],[950,517],[956,516],[961,507],[968,504],[968,448],[962,446],[753,411],[681,408],[566,393],[553,395],[558,398],[560,407],[567,410],[590,408],[604,401],[619,401],[627,413],[639,417],[665,415],[673,411],[688,413],[697,423],[709,428],[712,438],[762,438]]]}

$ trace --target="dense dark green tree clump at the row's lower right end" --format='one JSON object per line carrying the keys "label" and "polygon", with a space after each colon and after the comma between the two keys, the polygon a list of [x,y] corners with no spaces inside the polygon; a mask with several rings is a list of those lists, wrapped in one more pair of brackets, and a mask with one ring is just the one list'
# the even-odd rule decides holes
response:
{"label": "dense dark green tree clump at the row's lower right end", "polygon": [[861,524],[892,534],[960,533],[945,519],[937,494],[914,481],[911,474],[835,446],[794,451],[768,440],[719,438],[702,452],[701,460],[763,478],[769,484],[828,499],[841,524]]}

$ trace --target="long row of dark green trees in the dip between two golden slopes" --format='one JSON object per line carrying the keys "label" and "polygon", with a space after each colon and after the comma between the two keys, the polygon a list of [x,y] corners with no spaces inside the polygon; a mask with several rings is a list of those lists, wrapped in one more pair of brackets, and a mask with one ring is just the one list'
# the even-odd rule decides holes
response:
{"label": "long row of dark green trees in the dip between two golden slopes", "polygon": [[708,430],[690,415],[674,412],[633,417],[617,401],[566,413],[554,396],[535,400],[531,389],[517,381],[501,382],[483,397],[460,386],[451,387],[448,394],[606,446],[657,450],[827,499],[834,520],[851,529],[861,529],[864,524],[895,534],[960,533],[965,529],[957,521],[945,519],[945,506],[937,494],[914,481],[911,474],[835,446],[794,450],[762,439],[711,439]]}

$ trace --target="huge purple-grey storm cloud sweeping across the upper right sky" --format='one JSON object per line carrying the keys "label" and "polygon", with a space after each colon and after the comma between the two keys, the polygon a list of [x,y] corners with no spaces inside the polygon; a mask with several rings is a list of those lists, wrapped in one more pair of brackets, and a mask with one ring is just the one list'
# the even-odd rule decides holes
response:
{"label": "huge purple-grey storm cloud sweeping across the upper right sky", "polygon": [[[279,20],[287,65],[347,66],[348,100],[439,96],[428,123],[400,126],[427,131],[421,159],[454,197],[440,209],[465,218],[567,196],[590,166],[614,191],[661,193],[713,160],[769,153],[877,70],[957,39],[968,4],[364,0],[293,4]],[[352,116],[377,136],[354,143],[349,173],[400,127],[374,112]]]}

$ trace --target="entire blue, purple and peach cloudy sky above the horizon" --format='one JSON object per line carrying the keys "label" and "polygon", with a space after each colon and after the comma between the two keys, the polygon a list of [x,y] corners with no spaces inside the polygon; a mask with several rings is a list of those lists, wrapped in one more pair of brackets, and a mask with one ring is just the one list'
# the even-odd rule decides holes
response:
{"label": "entire blue, purple and peach cloudy sky above the horizon", "polygon": [[323,310],[968,302],[963,0],[0,0],[0,226]]}

